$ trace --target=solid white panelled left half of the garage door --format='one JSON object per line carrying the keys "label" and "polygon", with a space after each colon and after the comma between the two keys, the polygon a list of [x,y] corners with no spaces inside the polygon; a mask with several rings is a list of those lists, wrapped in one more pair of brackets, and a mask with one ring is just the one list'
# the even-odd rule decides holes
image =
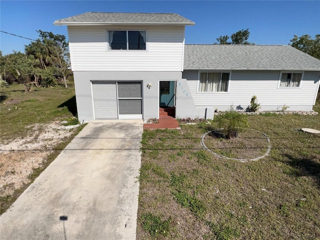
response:
{"label": "solid white panelled left half of the garage door", "polygon": [[92,82],[95,119],[118,118],[116,82]]}

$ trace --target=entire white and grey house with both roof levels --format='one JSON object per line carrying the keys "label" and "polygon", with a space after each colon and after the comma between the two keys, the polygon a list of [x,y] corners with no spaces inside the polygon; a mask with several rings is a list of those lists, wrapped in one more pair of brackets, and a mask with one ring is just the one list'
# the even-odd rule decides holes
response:
{"label": "entire white and grey house with both roof levels", "polygon": [[188,45],[175,13],[86,12],[67,25],[78,119],[208,117],[245,110],[311,111],[320,60],[289,45]]}

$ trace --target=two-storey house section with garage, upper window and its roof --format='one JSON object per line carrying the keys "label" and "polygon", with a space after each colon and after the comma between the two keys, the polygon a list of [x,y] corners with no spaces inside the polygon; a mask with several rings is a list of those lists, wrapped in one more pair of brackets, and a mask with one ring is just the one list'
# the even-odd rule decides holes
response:
{"label": "two-storey house section with garage, upper window and its roof", "polygon": [[86,12],[67,25],[78,118],[158,117],[175,106],[184,59],[184,27],[175,13]]}

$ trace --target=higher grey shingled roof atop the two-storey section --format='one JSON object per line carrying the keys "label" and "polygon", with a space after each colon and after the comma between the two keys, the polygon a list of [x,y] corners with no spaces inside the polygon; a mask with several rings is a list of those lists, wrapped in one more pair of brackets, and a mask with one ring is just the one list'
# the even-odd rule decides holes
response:
{"label": "higher grey shingled roof atop the two-storey section", "polygon": [[195,23],[176,13],[128,13],[128,12],[85,12],[55,20],[54,25],[148,25],[178,24],[194,25]]}

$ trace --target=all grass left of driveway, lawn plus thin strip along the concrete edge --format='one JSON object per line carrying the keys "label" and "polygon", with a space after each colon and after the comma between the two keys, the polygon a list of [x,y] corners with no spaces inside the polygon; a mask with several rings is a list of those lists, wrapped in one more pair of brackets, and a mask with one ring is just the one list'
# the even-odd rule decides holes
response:
{"label": "all grass left of driveway, lawn plus thin strip along the concrete edge", "polygon": [[[23,85],[10,85],[1,92],[0,132],[1,142],[16,137],[25,137],[30,132],[26,126],[34,123],[49,123],[66,120],[67,124],[77,123],[74,88],[56,86],[54,88],[32,88],[29,93],[23,92]],[[58,143],[41,165],[34,168],[28,176],[28,182],[15,189],[11,195],[0,197],[0,214],[2,214],[15,199],[35,180],[35,178],[57,157],[73,137],[84,127],[77,127],[71,136]],[[5,186],[3,186],[5,187]]]}

